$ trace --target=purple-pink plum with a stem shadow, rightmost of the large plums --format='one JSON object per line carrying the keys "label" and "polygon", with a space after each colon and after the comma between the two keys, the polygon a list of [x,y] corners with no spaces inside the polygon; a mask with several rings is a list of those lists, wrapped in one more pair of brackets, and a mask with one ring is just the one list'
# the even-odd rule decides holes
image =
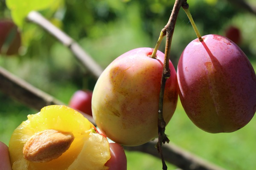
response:
{"label": "purple-pink plum with a stem shadow, rightmost of the large plums", "polygon": [[244,127],[256,111],[256,75],[242,50],[220,35],[186,46],[177,66],[181,104],[192,122],[209,133]]}

